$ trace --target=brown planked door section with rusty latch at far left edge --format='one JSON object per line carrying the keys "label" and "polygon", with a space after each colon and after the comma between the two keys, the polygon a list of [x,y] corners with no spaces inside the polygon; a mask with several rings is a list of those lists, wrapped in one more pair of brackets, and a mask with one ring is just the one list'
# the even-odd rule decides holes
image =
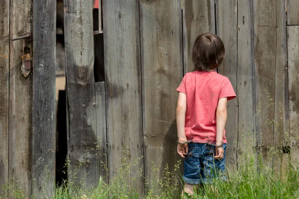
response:
{"label": "brown planked door section with rusty latch at far left edge", "polygon": [[0,196],[30,196],[32,0],[1,1],[0,18]]}

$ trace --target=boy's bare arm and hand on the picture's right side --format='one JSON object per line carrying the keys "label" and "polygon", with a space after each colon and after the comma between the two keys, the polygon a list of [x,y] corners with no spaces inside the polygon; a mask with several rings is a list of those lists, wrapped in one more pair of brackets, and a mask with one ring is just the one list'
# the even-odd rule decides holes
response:
{"label": "boy's bare arm and hand on the picture's right side", "polygon": [[[216,145],[221,145],[223,142],[223,133],[225,128],[225,123],[227,119],[227,111],[226,111],[226,103],[227,98],[221,98],[218,101],[217,111],[216,111]],[[222,159],[223,158],[223,148],[217,147],[216,150],[216,159]]]}

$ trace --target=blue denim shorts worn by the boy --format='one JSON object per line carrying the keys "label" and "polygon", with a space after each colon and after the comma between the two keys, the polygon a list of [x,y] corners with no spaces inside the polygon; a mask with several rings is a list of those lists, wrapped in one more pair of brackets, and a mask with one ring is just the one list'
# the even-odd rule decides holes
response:
{"label": "blue denim shorts worn by the boy", "polygon": [[213,179],[226,181],[225,176],[225,149],[223,145],[223,159],[214,159],[215,146],[201,143],[189,143],[188,154],[184,158],[185,183],[198,185],[213,183]]}

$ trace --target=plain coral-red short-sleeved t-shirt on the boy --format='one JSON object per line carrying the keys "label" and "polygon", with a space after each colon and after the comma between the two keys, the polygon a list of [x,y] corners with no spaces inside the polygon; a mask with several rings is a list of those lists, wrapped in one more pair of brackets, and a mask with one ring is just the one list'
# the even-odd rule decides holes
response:
{"label": "plain coral-red short-sleeved t-shirt on the boy", "polygon": [[[178,92],[186,94],[187,109],[185,134],[188,140],[198,143],[216,142],[216,110],[218,100],[234,99],[236,94],[227,77],[216,71],[187,73]],[[226,142],[225,130],[223,142]]]}

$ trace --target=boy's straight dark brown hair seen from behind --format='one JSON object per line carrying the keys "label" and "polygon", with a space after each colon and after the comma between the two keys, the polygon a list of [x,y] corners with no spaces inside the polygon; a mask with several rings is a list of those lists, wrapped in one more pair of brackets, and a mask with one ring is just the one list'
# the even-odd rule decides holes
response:
{"label": "boy's straight dark brown hair seen from behind", "polygon": [[204,33],[196,38],[192,50],[196,71],[211,71],[222,63],[224,57],[224,44],[217,35]]}

